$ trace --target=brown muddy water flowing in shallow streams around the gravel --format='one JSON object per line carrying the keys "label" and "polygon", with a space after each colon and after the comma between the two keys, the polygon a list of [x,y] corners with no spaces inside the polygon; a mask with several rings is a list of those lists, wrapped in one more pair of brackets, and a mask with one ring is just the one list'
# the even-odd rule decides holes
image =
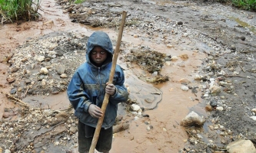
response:
{"label": "brown muddy water flowing in shallow streams around the gravel", "polygon": [[[89,36],[93,31],[101,30],[107,32],[112,40],[117,39],[118,33],[116,31],[88,28],[81,24],[71,23],[68,15],[63,14],[62,9],[55,5],[53,0],[42,1],[42,9],[44,11],[41,12],[42,19],[40,21],[30,21],[19,25],[5,24],[1,27],[0,32],[4,36],[0,38],[0,46],[2,47],[1,58],[3,55],[8,55],[18,44],[23,44],[29,37],[38,37],[53,31],[73,31]],[[198,83],[193,82],[193,73],[198,71],[198,66],[201,64],[200,59],[204,58],[204,54],[199,53],[193,48],[194,46],[198,48],[203,46],[197,43],[191,44],[189,40],[183,39],[183,45],[168,48],[162,44],[153,44],[150,41],[143,41],[138,37],[132,37],[132,34],[136,34],[136,32],[125,28],[122,41],[131,43],[133,46],[147,45],[172,56],[179,56],[182,50],[182,54],[188,54],[188,60],[178,58],[170,66],[165,65],[163,67],[161,74],[170,77],[170,81],[154,85],[163,93],[161,102],[158,103],[156,109],[145,112],[150,116],[149,118],[135,119],[134,116],[126,118],[125,121],[130,122],[130,129],[114,135],[115,138],[111,152],[177,152],[178,149],[183,148],[184,140],[187,138],[185,130],[179,123],[188,114],[189,109],[201,101],[200,92],[195,96],[191,92],[182,91],[179,80],[186,78],[191,81],[190,85],[198,85]],[[184,67],[181,67],[181,65]],[[12,87],[5,80],[7,66],[1,63],[0,69],[0,83],[3,85],[0,87],[3,92],[8,93]],[[126,71],[127,73],[133,73],[130,75],[137,77],[141,73],[145,73],[138,68],[126,67]],[[13,106],[13,103],[4,97],[4,94],[1,93],[2,104],[0,112],[4,112],[5,107]],[[63,110],[69,106],[65,92],[54,96],[26,96],[22,101],[32,107],[41,108]],[[203,110],[201,112],[204,113]],[[2,117],[2,114],[0,115]],[[148,131],[148,125],[145,122],[149,122],[153,129]]]}

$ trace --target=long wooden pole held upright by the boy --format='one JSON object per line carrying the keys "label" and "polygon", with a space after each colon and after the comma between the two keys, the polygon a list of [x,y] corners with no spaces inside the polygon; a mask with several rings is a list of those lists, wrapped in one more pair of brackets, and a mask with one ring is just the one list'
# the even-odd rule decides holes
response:
{"label": "long wooden pole held upright by the boy", "polygon": [[[118,41],[115,46],[115,53],[114,53],[114,57],[112,60],[112,67],[111,67],[109,80],[108,80],[109,84],[111,84],[113,82],[113,78],[114,78],[114,74],[115,74],[115,66],[116,66],[116,63],[118,60],[118,53],[119,53],[119,48],[121,45],[121,37],[123,35],[123,31],[124,31],[124,27],[125,27],[126,15],[127,15],[127,12],[123,11],[123,15],[121,18],[121,25],[120,25],[119,32],[118,32]],[[101,106],[101,111],[103,112],[103,116],[100,119],[98,119],[98,123],[97,123],[96,129],[95,129],[95,135],[93,135],[89,153],[93,153],[95,151],[95,146],[97,145],[97,142],[98,142],[98,136],[99,136],[99,133],[101,132],[101,125],[102,125],[104,117],[105,117],[105,111],[108,106],[108,98],[109,98],[108,93],[105,93],[103,104]]]}

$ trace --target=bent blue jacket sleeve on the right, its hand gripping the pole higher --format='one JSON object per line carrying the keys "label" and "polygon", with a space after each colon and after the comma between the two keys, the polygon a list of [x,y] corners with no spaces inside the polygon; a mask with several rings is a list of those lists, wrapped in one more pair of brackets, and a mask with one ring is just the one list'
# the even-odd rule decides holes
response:
{"label": "bent blue jacket sleeve on the right, its hand gripping the pole higher", "polygon": [[126,89],[124,84],[125,74],[123,70],[121,70],[121,67],[120,67],[120,70],[118,71],[119,71],[118,73],[119,75],[115,83],[116,92],[114,95],[109,96],[109,102],[112,104],[118,104],[121,102],[126,102],[128,100],[128,90]]}

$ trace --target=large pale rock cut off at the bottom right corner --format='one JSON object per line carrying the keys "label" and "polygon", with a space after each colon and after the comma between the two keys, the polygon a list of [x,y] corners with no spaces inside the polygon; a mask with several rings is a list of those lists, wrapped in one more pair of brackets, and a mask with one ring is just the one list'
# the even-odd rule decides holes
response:
{"label": "large pale rock cut off at the bottom right corner", "polygon": [[254,147],[254,144],[250,140],[241,139],[228,144],[227,151],[229,153],[255,153],[256,148]]}

